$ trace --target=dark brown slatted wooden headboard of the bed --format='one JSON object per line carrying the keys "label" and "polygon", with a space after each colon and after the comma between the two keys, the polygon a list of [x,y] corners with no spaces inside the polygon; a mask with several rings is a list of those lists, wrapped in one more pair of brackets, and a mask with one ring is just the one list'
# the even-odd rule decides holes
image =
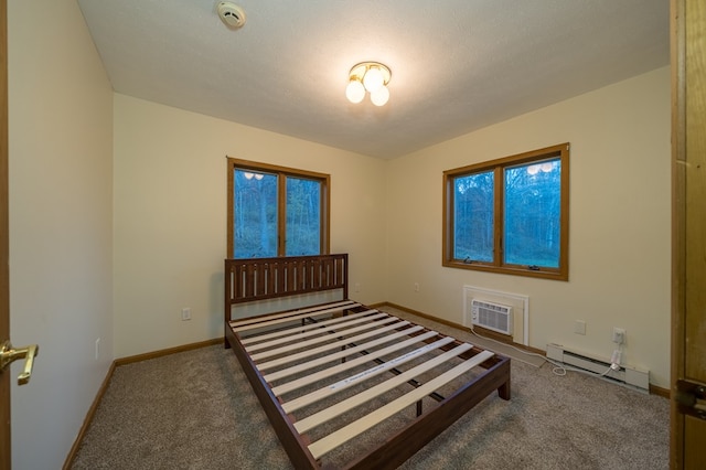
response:
{"label": "dark brown slatted wooden headboard of the bed", "polygon": [[342,289],[349,298],[349,255],[225,260],[225,321],[235,303]]}

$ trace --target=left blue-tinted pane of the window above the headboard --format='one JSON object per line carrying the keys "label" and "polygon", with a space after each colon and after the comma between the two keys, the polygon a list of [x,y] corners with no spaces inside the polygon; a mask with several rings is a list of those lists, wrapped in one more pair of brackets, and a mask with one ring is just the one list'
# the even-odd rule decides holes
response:
{"label": "left blue-tinted pane of the window above the headboard", "polygon": [[277,256],[277,175],[236,169],[233,199],[234,257]]}

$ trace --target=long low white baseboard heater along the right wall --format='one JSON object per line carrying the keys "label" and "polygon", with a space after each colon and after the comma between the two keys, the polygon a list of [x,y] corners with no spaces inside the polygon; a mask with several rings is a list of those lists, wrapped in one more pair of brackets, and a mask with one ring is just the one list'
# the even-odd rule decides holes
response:
{"label": "long low white baseboard heater along the right wall", "polygon": [[[569,351],[561,344],[554,343],[547,344],[547,359],[595,374],[602,374],[610,367],[610,361],[591,357],[577,351]],[[644,368],[621,364],[620,368],[610,371],[601,378],[639,392],[650,393],[650,371]]]}

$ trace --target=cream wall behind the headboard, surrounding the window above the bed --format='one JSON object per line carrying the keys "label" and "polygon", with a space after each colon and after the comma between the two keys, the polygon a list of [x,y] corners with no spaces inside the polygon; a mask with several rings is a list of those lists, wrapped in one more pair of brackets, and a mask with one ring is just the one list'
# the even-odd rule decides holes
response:
{"label": "cream wall behind the headboard, surrounding the window above the bed", "polygon": [[226,156],[331,174],[331,253],[385,300],[384,161],[116,94],[116,357],[223,335]]}

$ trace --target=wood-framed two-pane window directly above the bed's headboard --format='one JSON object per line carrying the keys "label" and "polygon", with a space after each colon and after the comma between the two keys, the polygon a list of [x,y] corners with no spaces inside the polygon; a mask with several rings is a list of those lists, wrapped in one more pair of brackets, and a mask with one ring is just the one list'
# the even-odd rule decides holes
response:
{"label": "wood-framed two-pane window directly above the bed's headboard", "polygon": [[228,254],[329,253],[328,174],[228,158]]}

